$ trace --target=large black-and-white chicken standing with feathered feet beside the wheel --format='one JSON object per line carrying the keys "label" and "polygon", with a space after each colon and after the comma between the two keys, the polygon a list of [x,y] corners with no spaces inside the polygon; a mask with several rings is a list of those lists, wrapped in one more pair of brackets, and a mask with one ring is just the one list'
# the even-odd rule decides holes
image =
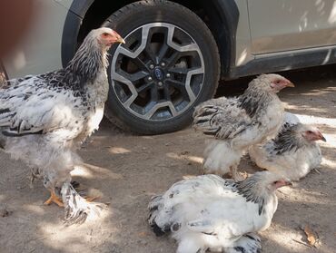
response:
{"label": "large black-and-white chicken standing with feathered feet beside the wheel", "polygon": [[75,150],[98,129],[108,94],[107,51],[124,43],[110,28],[91,31],[61,70],[10,81],[0,90],[0,143],[15,159],[38,168],[65,219],[84,222],[90,209],[70,184],[81,162]]}

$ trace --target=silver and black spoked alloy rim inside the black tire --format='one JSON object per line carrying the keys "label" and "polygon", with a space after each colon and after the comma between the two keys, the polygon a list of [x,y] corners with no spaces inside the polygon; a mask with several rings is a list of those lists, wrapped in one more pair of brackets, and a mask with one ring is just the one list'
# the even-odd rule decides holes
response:
{"label": "silver and black spoked alloy rim inside the black tire", "polygon": [[125,36],[112,59],[112,88],[124,108],[147,121],[176,117],[203,89],[203,54],[193,37],[167,23],[144,24]]}

